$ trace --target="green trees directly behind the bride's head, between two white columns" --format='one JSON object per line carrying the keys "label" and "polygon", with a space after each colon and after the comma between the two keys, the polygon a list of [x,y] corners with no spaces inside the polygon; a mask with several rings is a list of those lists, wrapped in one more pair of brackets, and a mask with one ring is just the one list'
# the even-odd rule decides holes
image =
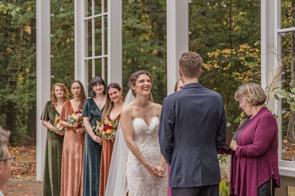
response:
{"label": "green trees directly behind the bride's head, between two white columns", "polygon": [[129,0],[123,3],[123,89],[132,73],[151,72],[155,102],[167,94],[166,1]]}

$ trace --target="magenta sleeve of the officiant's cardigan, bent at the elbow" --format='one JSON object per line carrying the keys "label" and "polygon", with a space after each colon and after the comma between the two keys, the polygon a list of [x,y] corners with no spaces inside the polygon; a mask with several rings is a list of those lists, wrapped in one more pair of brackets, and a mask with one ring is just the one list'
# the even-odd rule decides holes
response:
{"label": "magenta sleeve of the officiant's cardigan, bent at the elbow", "polygon": [[255,130],[253,144],[237,146],[236,156],[259,156],[265,153],[277,133],[276,123],[270,116],[262,119]]}

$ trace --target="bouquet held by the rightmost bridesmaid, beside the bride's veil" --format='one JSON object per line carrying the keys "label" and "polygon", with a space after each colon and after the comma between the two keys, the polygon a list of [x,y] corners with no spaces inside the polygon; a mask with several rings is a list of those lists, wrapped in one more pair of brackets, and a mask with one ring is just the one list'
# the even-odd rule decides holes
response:
{"label": "bouquet held by the rightmost bridesmaid, beside the bride's veil", "polygon": [[115,141],[117,130],[115,128],[118,127],[119,121],[110,121],[107,117],[104,119],[104,123],[100,126],[99,121],[96,121],[96,126],[93,126],[92,129],[96,133],[97,136],[103,138],[104,140]]}

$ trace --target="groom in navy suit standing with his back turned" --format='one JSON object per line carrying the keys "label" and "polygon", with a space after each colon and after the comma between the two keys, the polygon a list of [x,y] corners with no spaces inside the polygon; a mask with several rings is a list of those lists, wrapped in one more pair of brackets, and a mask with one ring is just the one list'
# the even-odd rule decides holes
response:
{"label": "groom in navy suit standing with his back turned", "polygon": [[198,81],[202,58],[185,52],[179,59],[182,90],[163,100],[159,126],[161,153],[171,166],[172,196],[218,196],[217,152],[226,140],[226,115],[219,93]]}

